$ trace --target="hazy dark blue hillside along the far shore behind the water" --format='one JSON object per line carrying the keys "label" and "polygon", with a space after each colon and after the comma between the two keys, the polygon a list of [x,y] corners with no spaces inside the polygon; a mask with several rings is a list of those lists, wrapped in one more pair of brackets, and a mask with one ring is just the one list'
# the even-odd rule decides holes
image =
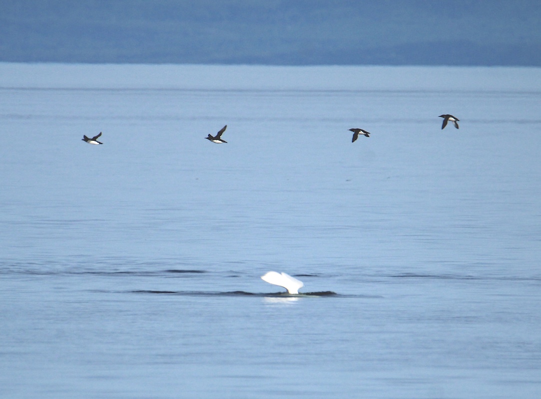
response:
{"label": "hazy dark blue hillside along the far shore behind the water", "polygon": [[0,0],[0,61],[541,66],[538,1]]}

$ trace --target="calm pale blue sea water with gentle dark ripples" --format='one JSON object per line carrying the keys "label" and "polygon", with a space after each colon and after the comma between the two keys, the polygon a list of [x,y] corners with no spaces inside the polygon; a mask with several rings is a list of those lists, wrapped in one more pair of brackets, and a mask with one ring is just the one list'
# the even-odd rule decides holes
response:
{"label": "calm pale blue sea water with gentle dark ripples", "polygon": [[541,69],[0,64],[0,396],[540,397],[540,105]]}

